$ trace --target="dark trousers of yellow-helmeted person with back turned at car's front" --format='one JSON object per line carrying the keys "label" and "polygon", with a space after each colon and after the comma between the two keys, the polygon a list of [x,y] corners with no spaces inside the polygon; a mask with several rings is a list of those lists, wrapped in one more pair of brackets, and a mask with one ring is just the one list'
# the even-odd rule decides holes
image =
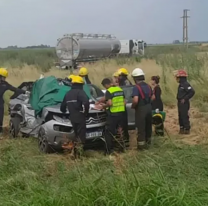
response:
{"label": "dark trousers of yellow-helmeted person with back turned at car's front", "polygon": [[72,122],[76,141],[81,141],[82,144],[86,141],[86,121],[85,119],[79,123]]}

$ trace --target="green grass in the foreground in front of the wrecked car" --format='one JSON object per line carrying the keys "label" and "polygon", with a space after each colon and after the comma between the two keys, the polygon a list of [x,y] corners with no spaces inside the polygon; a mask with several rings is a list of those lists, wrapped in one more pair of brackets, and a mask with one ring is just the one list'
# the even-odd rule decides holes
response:
{"label": "green grass in the foreground in front of the wrecked car", "polygon": [[[204,206],[208,150],[165,143],[148,152],[72,162],[41,155],[34,140],[0,145],[0,205]],[[198,158],[198,157],[201,158]]]}

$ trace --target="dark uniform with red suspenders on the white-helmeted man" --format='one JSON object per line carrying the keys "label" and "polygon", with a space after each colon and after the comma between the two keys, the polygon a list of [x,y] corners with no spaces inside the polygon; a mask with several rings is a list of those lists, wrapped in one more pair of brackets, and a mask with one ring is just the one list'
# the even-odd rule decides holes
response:
{"label": "dark uniform with red suspenders on the white-helmeted man", "polygon": [[138,132],[138,149],[151,142],[152,136],[152,89],[145,82],[134,86],[132,97],[138,96],[139,102],[135,108],[135,124]]}

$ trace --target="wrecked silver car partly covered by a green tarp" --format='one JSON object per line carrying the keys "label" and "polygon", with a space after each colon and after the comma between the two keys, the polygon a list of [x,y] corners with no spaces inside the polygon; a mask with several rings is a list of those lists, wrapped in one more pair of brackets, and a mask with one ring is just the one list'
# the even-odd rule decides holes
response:
{"label": "wrecked silver car partly covered by a green tarp", "polygon": [[[31,94],[14,93],[11,97],[10,136],[36,137],[39,149],[44,153],[61,150],[66,141],[75,138],[70,114],[60,111],[60,103],[70,87],[70,84],[66,84],[65,80],[52,76],[21,84],[19,88]],[[103,96],[103,92],[95,85],[84,87],[92,104]],[[87,143],[95,143],[103,137],[105,124],[106,112],[90,109],[86,118]]]}

